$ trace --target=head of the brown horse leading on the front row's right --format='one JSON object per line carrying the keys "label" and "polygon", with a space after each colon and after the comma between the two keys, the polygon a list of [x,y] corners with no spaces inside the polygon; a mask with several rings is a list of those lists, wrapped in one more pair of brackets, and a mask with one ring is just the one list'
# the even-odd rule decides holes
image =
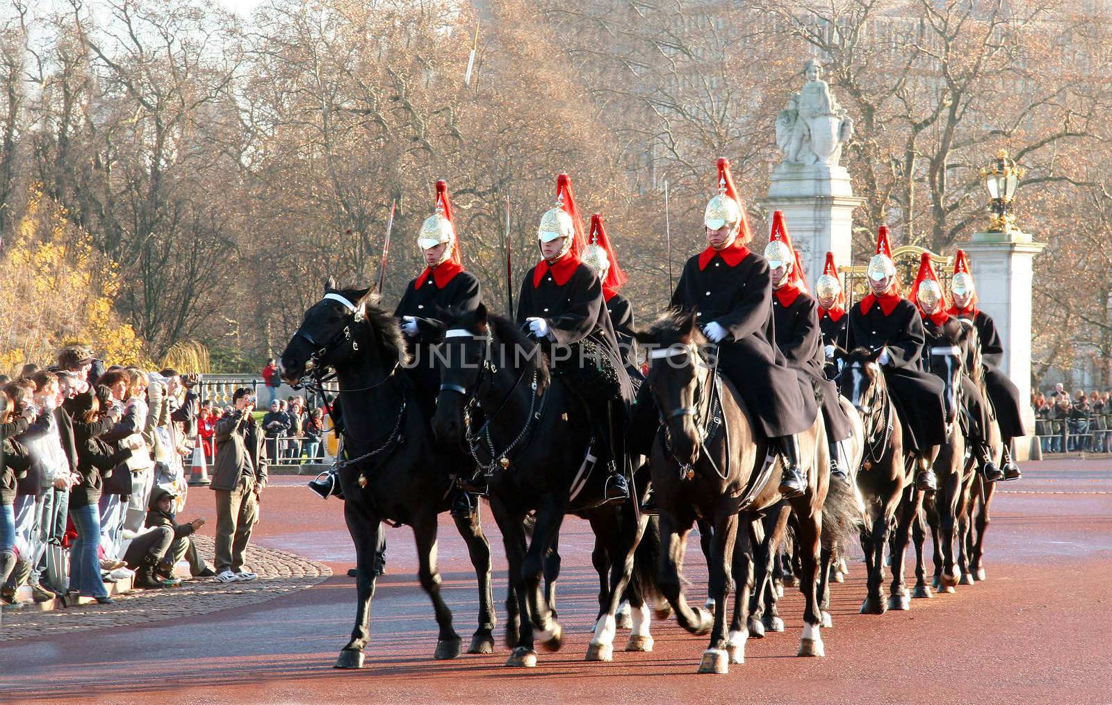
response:
{"label": "head of the brown horse leading on the front row's right", "polygon": [[635,336],[647,350],[645,384],[667,426],[672,455],[678,463],[694,464],[701,444],[696,416],[707,369],[702,352],[706,338],[695,325],[695,311],[666,314]]}

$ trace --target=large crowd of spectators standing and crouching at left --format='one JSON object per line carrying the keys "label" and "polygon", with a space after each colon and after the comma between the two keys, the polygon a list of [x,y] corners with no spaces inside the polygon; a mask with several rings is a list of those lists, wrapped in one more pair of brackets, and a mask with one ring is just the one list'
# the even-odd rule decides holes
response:
{"label": "large crowd of spectators standing and crouching at left", "polygon": [[[244,552],[266,487],[267,461],[254,397],[200,404],[196,375],[108,366],[80,347],[53,365],[0,376],[0,602],[19,607],[77,596],[110,604],[106,583],[139,588],[180,583],[175,564],[220,583],[257,576]],[[199,438],[215,449],[217,566],[191,535],[203,518],[178,523],[188,493],[188,458]],[[258,444],[250,443],[257,438]],[[219,481],[218,481],[219,480]]]}

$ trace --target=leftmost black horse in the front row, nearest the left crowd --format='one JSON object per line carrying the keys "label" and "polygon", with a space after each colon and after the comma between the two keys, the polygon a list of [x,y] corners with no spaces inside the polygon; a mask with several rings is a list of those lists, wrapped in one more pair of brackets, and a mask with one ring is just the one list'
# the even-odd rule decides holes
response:
{"label": "leftmost black horse in the front row, nearest the left crowd", "polygon": [[[474,465],[464,454],[433,441],[400,368],[406,346],[397,319],[377,306],[369,289],[337,289],[329,279],[324,298],[305,312],[301,326],[282,351],[282,379],[296,384],[326,368],[336,373],[342,410],[344,457],[339,467],[344,519],[356,548],[356,608],[351,641],[340,651],[337,668],[359,668],[369,637],[370,600],[375,595],[375,534],[383,520],[413,527],[418,578],[433,599],[439,625],[435,658],[459,655],[459,635],[440,596],[436,567],[437,515],[447,512],[454,489],[451,471]],[[479,585],[479,626],[468,653],[494,649],[494,600],[490,546],[478,514],[456,518],[467,543]]]}

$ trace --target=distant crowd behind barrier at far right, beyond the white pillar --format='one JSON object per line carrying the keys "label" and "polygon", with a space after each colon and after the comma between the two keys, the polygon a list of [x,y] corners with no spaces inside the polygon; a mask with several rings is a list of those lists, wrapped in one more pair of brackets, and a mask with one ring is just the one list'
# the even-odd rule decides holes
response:
{"label": "distant crowd behind barrier at far right, beyond the white pillar", "polygon": [[1112,416],[1112,390],[1093,390],[1088,395],[1076,389],[1073,396],[1061,383],[1049,394],[1032,391],[1031,406],[1035,413],[1036,434],[1043,453],[1071,453],[1112,450],[1112,430],[1108,421]]}

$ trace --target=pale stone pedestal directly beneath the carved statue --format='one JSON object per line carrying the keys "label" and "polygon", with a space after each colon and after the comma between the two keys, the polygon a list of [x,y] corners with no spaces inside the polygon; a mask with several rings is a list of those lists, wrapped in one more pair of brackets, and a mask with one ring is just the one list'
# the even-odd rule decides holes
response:
{"label": "pale stone pedestal directly beneath the carved statue", "polygon": [[853,211],[864,199],[853,195],[850,172],[831,165],[783,162],[772,173],[768,196],[759,202],[784,211],[787,231],[800,250],[808,285],[823,272],[826,252],[838,267],[853,252]]}

